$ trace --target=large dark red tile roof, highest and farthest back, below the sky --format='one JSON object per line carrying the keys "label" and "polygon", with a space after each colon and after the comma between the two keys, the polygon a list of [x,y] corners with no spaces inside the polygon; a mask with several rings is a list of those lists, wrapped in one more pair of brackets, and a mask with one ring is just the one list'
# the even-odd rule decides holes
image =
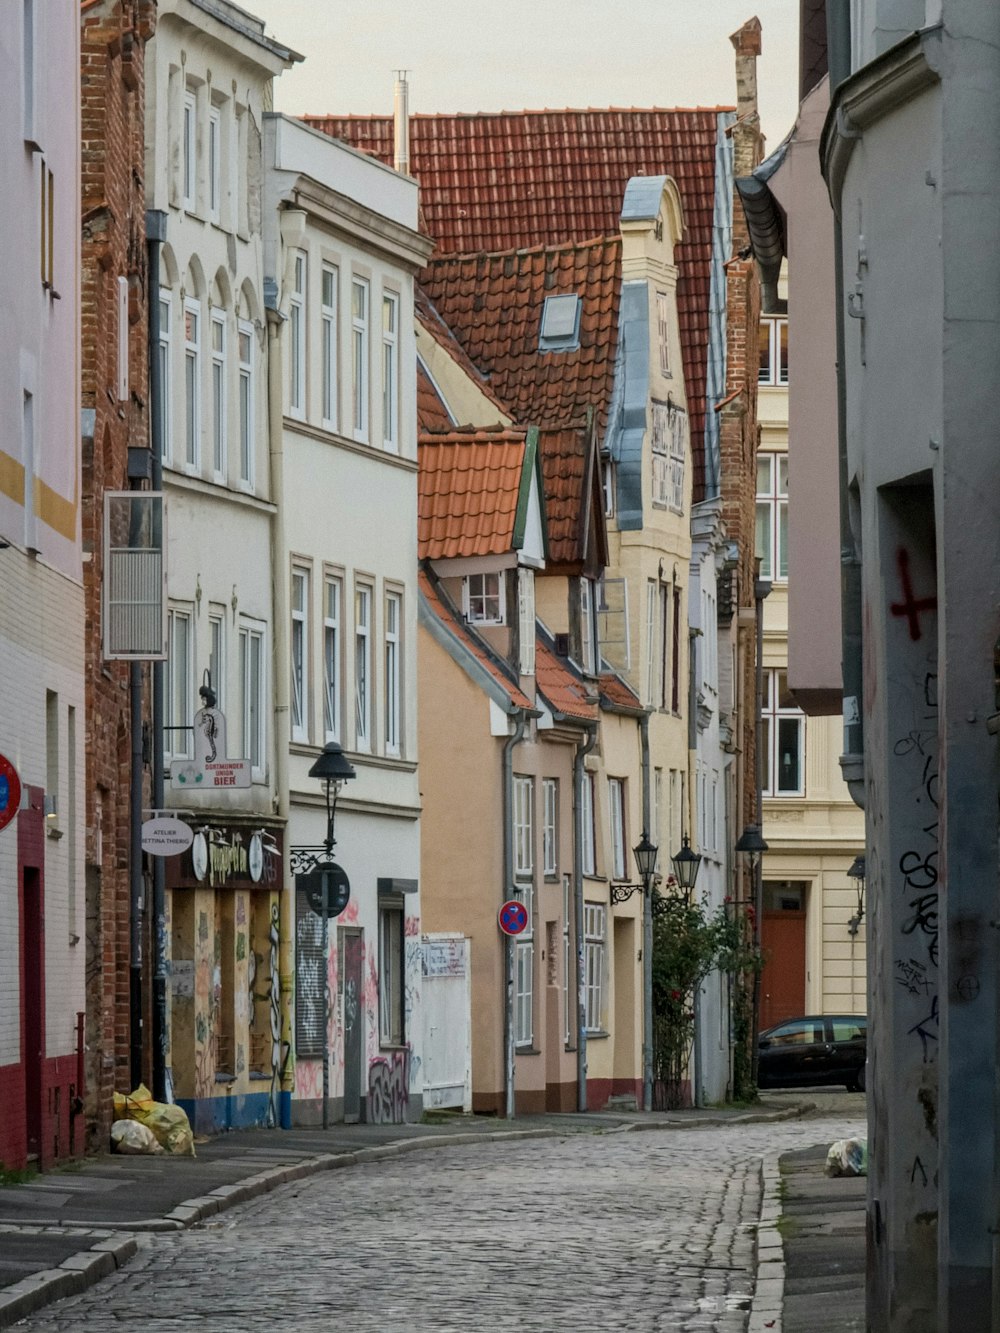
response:
{"label": "large dark red tile roof, highest and farthest back, below the sky", "polygon": [[[687,228],[675,259],[696,496],[704,484],[715,159],[719,115],[731,111],[612,107],[411,117],[411,171],[439,256],[609,236],[632,176],[673,176]],[[392,161],[388,116],[305,120]]]}

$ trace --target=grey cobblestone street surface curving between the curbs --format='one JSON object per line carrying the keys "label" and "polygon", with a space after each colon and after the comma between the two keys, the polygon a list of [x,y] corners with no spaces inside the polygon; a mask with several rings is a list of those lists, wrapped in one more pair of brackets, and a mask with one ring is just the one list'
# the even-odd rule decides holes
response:
{"label": "grey cobblestone street surface curving between the curbs", "polygon": [[17,1326],[737,1333],[760,1154],[859,1130],[832,1116],[573,1134],[324,1173],[147,1237],[121,1273]]}

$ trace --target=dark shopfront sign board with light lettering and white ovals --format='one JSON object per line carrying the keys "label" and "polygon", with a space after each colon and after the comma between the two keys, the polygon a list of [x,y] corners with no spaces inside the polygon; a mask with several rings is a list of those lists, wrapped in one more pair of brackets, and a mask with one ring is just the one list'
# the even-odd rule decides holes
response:
{"label": "dark shopfront sign board with light lettering and white ovals", "polygon": [[225,824],[196,828],[181,856],[165,860],[168,889],[281,888],[284,830],[269,824]]}

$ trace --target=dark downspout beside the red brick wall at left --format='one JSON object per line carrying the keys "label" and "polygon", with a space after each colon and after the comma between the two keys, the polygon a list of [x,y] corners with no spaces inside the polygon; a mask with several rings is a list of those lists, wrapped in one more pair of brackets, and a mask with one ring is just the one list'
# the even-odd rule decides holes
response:
{"label": "dark downspout beside the red brick wall at left", "polygon": [[[163,376],[160,373],[160,245],[167,240],[167,213],[151,208],[145,215],[148,253],[148,348],[149,348],[149,452],[152,455],[151,483],[153,491],[163,491]],[[163,545],[163,531],[155,533]],[[164,552],[165,557],[165,552]],[[164,663],[152,666],[152,806],[159,813],[164,800],[163,765],[163,677]],[[153,1100],[173,1101],[173,1089],[167,1081],[167,861],[161,856],[153,862]]]}

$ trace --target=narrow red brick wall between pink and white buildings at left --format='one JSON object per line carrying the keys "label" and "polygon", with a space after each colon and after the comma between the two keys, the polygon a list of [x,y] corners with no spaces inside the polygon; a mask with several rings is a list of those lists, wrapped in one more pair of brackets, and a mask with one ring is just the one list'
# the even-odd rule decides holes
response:
{"label": "narrow red brick wall between pink and white buildings at left", "polygon": [[[129,1082],[129,690],[101,656],[104,492],[128,489],[128,445],[148,447],[144,48],[153,0],[84,11],[81,61],[83,540],[87,596],[87,1121],[107,1142],[112,1092]],[[128,388],[117,397],[119,277],[128,279]],[[88,559],[89,556],[89,559]],[[148,672],[144,672],[148,676]],[[148,706],[144,706],[148,716]]]}

